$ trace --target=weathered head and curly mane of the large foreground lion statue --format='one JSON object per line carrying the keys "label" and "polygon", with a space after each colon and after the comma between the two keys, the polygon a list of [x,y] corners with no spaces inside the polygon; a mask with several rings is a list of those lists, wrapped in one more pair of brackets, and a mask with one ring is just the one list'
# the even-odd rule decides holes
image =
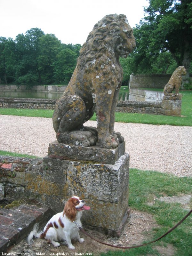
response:
{"label": "weathered head and curly mane of the large foreground lion statue", "polygon": [[80,55],[92,60],[107,51],[116,58],[126,58],[134,47],[135,38],[126,16],[110,14],[95,24],[80,50]]}

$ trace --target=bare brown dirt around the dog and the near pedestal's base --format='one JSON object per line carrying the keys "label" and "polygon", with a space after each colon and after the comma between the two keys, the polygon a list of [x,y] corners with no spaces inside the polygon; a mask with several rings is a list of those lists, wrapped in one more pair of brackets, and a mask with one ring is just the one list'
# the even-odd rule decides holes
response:
{"label": "bare brown dirt around the dog and the near pedestal's base", "polygon": [[[142,244],[146,240],[152,240],[152,229],[158,227],[153,216],[139,211],[131,211],[130,218],[126,223],[122,235],[119,238],[108,237],[97,231],[86,229],[86,232],[96,239],[119,246],[134,246]],[[29,246],[26,239],[22,240],[18,245],[14,246],[9,252],[19,253],[45,253],[44,255],[50,255],[50,253],[94,253],[99,255],[101,252],[107,252],[109,250],[122,250],[109,247],[107,245],[99,244],[80,232],[80,236],[85,239],[83,244],[73,241],[72,244],[76,247],[75,250],[68,249],[67,246],[61,245],[60,247],[54,247],[52,244],[46,243],[45,239],[34,239],[35,244]],[[155,244],[154,244],[155,245]],[[171,245],[156,246],[156,250],[160,255],[171,256],[174,253],[174,248]],[[172,253],[172,254],[171,254]],[[149,256],[149,255],[148,255]]]}

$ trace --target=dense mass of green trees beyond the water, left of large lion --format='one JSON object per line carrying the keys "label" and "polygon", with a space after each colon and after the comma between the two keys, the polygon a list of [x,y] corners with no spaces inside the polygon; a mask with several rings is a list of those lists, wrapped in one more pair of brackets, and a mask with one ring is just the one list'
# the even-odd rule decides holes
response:
{"label": "dense mass of green trees beyond the water, left of large lion", "polygon": [[80,44],[62,44],[53,34],[31,28],[25,35],[0,37],[0,84],[68,84]]}

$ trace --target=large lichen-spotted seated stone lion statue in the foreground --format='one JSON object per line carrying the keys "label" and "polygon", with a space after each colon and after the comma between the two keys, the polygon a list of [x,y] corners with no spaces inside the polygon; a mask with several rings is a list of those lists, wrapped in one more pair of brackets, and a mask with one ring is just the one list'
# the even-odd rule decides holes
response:
{"label": "large lichen-spotted seated stone lion statue in the foreground", "polygon": [[[59,143],[116,148],[124,138],[114,131],[115,110],[126,58],[135,38],[126,16],[106,15],[80,50],[71,80],[55,105],[53,127]],[[84,127],[96,112],[97,128]]]}

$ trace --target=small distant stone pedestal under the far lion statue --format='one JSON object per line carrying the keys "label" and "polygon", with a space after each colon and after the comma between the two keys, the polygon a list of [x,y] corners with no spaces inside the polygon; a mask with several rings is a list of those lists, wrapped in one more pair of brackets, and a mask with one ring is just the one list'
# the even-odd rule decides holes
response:
{"label": "small distant stone pedestal under the far lion statue", "polygon": [[176,96],[164,96],[162,100],[163,112],[167,116],[181,116],[181,97]]}

